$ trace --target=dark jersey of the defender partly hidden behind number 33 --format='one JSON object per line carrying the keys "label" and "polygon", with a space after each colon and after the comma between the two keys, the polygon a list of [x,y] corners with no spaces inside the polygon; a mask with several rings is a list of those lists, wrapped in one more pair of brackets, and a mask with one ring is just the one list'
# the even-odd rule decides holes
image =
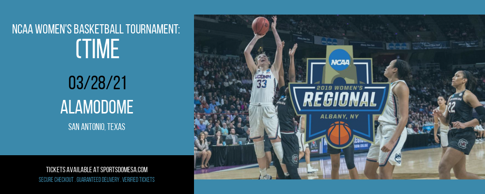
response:
{"label": "dark jersey of the defender partly hidden behind number 33", "polygon": [[[282,91],[285,91],[285,89],[286,86],[280,88]],[[296,113],[293,109],[291,98],[285,95],[281,96],[275,106],[281,132],[295,132],[293,117],[295,117]]]}

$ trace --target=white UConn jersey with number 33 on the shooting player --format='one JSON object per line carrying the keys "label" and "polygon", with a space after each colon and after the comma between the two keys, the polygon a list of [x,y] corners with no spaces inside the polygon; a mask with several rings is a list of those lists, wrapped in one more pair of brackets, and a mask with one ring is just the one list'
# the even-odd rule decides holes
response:
{"label": "white UConn jersey with number 33 on the shooting player", "polygon": [[276,92],[276,78],[271,69],[262,71],[258,69],[253,78],[253,89],[251,90],[251,104],[268,103],[273,104]]}

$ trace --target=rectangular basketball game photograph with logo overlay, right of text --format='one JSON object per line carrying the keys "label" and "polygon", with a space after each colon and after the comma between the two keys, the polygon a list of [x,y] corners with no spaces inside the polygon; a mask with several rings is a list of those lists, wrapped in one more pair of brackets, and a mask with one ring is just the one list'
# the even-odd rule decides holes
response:
{"label": "rectangular basketball game photograph with logo overlay, right of text", "polygon": [[485,15],[194,15],[194,180],[484,179]]}

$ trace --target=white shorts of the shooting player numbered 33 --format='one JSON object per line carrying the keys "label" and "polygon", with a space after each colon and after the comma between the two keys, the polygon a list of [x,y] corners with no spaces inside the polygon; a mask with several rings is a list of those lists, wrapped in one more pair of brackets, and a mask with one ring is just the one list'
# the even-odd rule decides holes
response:
{"label": "white shorts of the shooting player numbered 33", "polygon": [[264,130],[269,139],[276,139],[279,135],[278,114],[274,105],[249,105],[249,139],[258,139],[264,136]]}

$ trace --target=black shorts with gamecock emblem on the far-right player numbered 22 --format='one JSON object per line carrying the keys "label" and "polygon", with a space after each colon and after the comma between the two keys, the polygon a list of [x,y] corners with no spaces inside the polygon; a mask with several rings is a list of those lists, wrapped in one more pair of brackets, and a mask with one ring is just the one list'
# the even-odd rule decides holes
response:
{"label": "black shorts with gamecock emblem on the far-right player numbered 22", "polygon": [[475,145],[475,131],[473,128],[450,129],[448,131],[448,147],[470,154],[471,148]]}

